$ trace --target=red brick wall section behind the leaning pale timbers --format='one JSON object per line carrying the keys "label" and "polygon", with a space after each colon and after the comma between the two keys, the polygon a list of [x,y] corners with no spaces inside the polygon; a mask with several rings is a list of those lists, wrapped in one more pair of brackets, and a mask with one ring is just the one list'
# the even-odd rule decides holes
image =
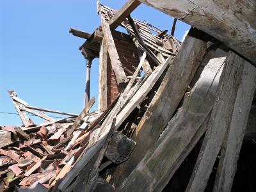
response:
{"label": "red brick wall section behind the leaning pale timbers", "polygon": [[[118,56],[122,63],[122,66],[130,70],[132,73],[136,70],[140,60],[138,58],[138,54],[136,52],[136,46],[134,43],[125,42],[121,40],[115,40],[116,50],[118,52]],[[125,71],[126,76],[131,76],[129,72]],[[107,103],[108,106],[115,100],[116,96],[120,92],[120,88],[117,85],[115,73],[111,67],[111,61],[108,58],[107,65],[107,86],[108,86],[108,95],[107,95]]]}

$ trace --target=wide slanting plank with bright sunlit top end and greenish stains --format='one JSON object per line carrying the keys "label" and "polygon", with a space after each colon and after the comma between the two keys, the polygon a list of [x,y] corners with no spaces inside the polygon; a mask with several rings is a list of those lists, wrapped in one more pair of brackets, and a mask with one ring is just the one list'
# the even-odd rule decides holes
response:
{"label": "wide slanting plank with bright sunlit top end and greenish stains", "polygon": [[225,57],[212,58],[159,140],[117,191],[162,191],[196,144],[194,137],[214,106]]}

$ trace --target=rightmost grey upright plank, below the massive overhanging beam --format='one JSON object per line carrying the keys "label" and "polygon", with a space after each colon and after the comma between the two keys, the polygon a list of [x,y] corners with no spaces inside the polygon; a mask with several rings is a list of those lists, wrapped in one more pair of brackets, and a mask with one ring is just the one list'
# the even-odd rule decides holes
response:
{"label": "rightmost grey upright plank, below the massive overhanging beam", "polygon": [[256,89],[256,68],[235,54],[234,62],[244,62],[243,74],[236,94],[232,120],[223,142],[220,163],[213,191],[231,191],[237,169],[237,160],[243,143],[244,132]]}

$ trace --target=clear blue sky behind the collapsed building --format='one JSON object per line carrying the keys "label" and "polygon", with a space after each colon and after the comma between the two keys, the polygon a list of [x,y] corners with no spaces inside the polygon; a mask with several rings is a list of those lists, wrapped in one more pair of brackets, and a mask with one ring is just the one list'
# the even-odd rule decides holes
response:
{"label": "clear blue sky behind the collapsed building", "polygon": [[[31,106],[80,113],[83,109],[86,61],[78,47],[84,40],[68,33],[70,27],[92,33],[99,25],[96,0],[0,1],[0,111],[17,113],[7,90]],[[102,0],[116,10],[125,0]],[[173,19],[141,4],[132,17],[160,29]],[[177,22],[182,40],[189,26]],[[98,95],[99,60],[92,65],[91,96]],[[97,109],[97,101],[93,110]],[[60,116],[54,115],[52,116]],[[44,122],[32,116],[35,123]],[[0,125],[21,125],[18,115],[0,113]]]}

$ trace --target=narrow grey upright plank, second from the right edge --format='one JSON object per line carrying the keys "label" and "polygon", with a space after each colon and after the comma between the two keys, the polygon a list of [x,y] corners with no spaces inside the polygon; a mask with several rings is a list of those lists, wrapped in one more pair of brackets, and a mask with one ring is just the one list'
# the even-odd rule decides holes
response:
{"label": "narrow grey upright plank, second from the right edge", "polygon": [[[207,185],[212,167],[223,144],[225,132],[230,127],[232,118],[234,118],[232,117],[234,103],[239,85],[241,84],[245,62],[245,60],[234,54],[234,52],[230,52],[228,55],[209,120],[209,127],[207,128],[204,142],[186,191],[204,191]],[[239,109],[237,110],[239,111]],[[240,115],[242,116],[242,114]]]}

